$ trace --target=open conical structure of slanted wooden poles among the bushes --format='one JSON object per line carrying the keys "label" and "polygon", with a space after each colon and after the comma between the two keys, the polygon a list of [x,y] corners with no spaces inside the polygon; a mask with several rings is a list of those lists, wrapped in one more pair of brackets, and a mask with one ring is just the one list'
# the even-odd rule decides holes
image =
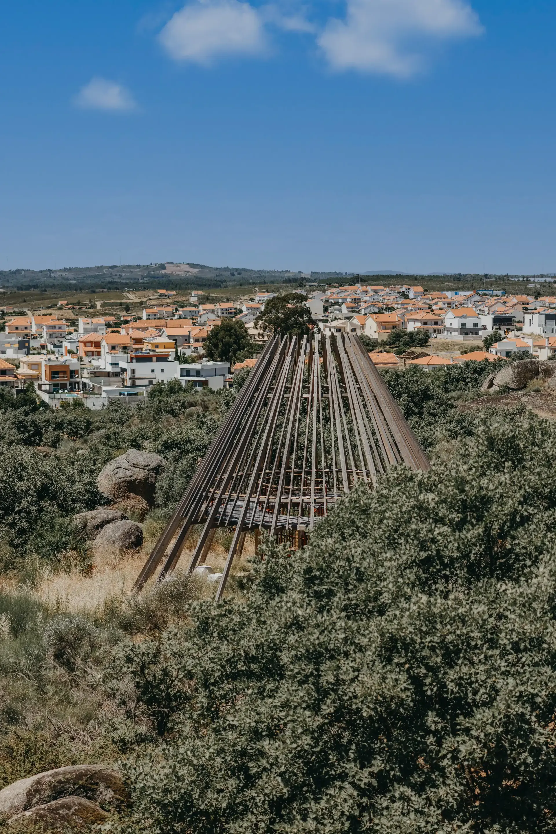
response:
{"label": "open conical structure of slanted wooden poles among the bushes", "polygon": [[203,525],[189,570],[202,565],[218,527],[235,528],[221,599],[248,530],[313,530],[340,495],[371,489],[388,467],[429,463],[356,336],[274,336],[259,355],[163,534],[136,590],[163,561],[178,564],[193,525]]}

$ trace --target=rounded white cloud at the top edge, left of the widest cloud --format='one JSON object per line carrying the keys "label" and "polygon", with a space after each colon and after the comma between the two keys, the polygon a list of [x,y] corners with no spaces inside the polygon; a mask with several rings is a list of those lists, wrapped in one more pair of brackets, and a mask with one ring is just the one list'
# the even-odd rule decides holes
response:
{"label": "rounded white cloud at the top edge, left of the widest cloud", "polygon": [[174,14],[159,35],[178,61],[211,63],[220,55],[255,55],[266,46],[258,10],[238,0],[196,0]]}

